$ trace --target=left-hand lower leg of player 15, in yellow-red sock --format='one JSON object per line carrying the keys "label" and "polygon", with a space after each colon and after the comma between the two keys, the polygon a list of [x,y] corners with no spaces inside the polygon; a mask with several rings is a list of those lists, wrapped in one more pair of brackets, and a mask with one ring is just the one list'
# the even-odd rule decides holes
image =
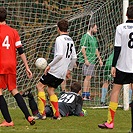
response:
{"label": "left-hand lower leg of player 15, in yellow-red sock", "polygon": [[46,105],[46,95],[44,88],[46,87],[44,84],[39,82],[37,85],[37,90],[38,90],[38,110],[39,113],[42,116],[42,119],[46,119],[46,114],[45,114],[45,105]]}

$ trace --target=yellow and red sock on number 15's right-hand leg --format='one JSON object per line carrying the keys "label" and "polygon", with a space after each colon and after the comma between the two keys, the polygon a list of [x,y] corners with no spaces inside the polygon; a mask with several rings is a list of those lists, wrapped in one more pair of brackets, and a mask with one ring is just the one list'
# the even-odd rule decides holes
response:
{"label": "yellow and red sock on number 15's right-hand leg", "polygon": [[58,117],[60,113],[58,108],[58,98],[55,94],[50,96],[50,104],[52,106],[54,116]]}

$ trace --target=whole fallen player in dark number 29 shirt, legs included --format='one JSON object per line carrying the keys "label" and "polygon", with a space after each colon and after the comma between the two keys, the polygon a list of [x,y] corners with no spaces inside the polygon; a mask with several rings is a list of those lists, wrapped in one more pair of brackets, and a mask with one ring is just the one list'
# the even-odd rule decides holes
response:
{"label": "whole fallen player in dark number 29 shirt, legs included", "polygon": [[[35,119],[42,119],[37,107],[37,103],[33,97],[31,90],[22,93],[23,97],[28,97],[29,107]],[[82,110],[83,100],[81,97],[81,85],[78,82],[73,82],[70,87],[70,92],[65,92],[58,100],[59,112],[62,117],[65,116],[84,116],[85,112]],[[45,114],[47,117],[53,116],[53,111],[49,105],[45,106]]]}

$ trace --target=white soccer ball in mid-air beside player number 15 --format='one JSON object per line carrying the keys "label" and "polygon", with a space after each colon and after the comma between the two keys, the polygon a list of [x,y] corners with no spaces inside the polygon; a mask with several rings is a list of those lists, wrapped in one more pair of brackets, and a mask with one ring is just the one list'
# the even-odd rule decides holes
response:
{"label": "white soccer ball in mid-air beside player number 15", "polygon": [[38,69],[41,69],[41,70],[45,69],[46,66],[47,66],[47,61],[46,61],[46,59],[44,59],[44,58],[38,58],[38,59],[36,60],[36,62],[35,62],[35,66],[36,66]]}

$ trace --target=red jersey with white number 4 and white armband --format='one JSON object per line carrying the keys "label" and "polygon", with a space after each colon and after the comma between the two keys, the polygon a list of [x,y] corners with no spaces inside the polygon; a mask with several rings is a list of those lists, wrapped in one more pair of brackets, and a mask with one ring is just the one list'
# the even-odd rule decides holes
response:
{"label": "red jersey with white number 4 and white armband", "polygon": [[8,25],[0,25],[0,74],[16,74],[16,48],[21,47],[18,32]]}

